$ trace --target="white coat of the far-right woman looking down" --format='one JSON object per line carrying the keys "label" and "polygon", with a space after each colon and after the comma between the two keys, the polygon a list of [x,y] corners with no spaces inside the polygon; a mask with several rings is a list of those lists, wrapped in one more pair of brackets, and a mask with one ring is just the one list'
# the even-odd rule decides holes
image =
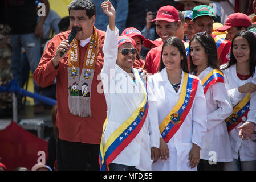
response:
{"label": "white coat of the far-right woman looking down", "polygon": [[[250,77],[247,80],[240,80],[237,76],[236,64],[230,68],[222,71],[225,76],[225,84],[228,89],[229,97],[233,107],[240,102],[247,93],[240,93],[238,87],[248,82],[251,82]],[[255,102],[255,101],[254,101]],[[255,103],[250,101],[250,105]],[[241,126],[244,122],[241,122],[237,127]],[[251,140],[242,140],[238,137],[239,130],[235,127],[229,132],[230,144],[232,148],[232,156],[234,159],[238,159],[238,151],[241,161],[256,160],[256,142]]]}

